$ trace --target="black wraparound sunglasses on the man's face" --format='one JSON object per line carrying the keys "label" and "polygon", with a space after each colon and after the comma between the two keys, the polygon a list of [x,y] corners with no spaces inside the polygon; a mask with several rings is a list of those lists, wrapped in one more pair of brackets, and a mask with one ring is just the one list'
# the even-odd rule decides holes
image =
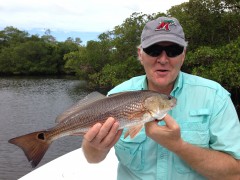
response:
{"label": "black wraparound sunglasses on the man's face", "polygon": [[177,57],[183,53],[184,47],[179,46],[177,44],[170,45],[170,46],[160,46],[158,44],[154,44],[147,48],[143,48],[143,51],[152,57],[158,57],[162,54],[163,51],[166,52],[168,57]]}

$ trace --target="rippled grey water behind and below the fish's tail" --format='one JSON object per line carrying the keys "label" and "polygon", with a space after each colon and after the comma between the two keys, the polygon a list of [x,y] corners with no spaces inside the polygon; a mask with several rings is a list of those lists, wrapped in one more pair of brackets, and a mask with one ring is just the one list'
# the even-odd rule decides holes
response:
{"label": "rippled grey water behind and below the fish's tail", "polygon": [[[57,78],[0,78],[0,179],[16,180],[34,170],[8,140],[54,126],[56,116],[89,92],[84,82]],[[81,137],[55,141],[38,167],[81,146]]]}

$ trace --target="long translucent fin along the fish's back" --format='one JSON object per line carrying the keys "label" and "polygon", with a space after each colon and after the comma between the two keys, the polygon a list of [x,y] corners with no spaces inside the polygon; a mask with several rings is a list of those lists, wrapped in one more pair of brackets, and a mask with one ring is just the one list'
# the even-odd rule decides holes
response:
{"label": "long translucent fin along the fish's back", "polygon": [[88,94],[86,97],[84,97],[83,99],[78,101],[76,104],[71,106],[69,109],[67,109],[63,113],[59,114],[56,118],[56,123],[60,123],[60,122],[64,121],[67,117],[74,114],[75,112],[81,111],[81,109],[83,109],[87,105],[89,105],[97,100],[104,99],[104,98],[106,98],[105,95],[103,95],[99,92],[96,92],[96,91]]}

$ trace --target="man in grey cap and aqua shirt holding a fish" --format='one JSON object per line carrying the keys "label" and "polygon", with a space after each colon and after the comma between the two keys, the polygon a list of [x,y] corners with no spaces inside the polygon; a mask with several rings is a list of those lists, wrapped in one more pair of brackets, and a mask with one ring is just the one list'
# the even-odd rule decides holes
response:
{"label": "man in grey cap and aqua shirt holding a fish", "polygon": [[115,145],[120,180],[240,179],[240,124],[230,95],[216,82],[180,71],[186,46],[177,19],[146,24],[138,49],[146,75],[109,94],[150,89],[176,97],[177,106],[134,139],[124,139],[117,119],[96,124],[82,144],[90,163],[102,161]]}

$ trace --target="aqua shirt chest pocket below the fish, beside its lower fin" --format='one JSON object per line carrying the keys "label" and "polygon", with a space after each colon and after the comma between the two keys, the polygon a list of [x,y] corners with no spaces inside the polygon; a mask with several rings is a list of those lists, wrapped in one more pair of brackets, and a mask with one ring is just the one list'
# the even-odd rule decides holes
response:
{"label": "aqua shirt chest pocket below the fish, beside its lower fin", "polygon": [[146,138],[142,131],[133,139],[129,137],[124,139],[122,136],[115,145],[115,153],[119,162],[132,170],[143,169],[144,141]]}

